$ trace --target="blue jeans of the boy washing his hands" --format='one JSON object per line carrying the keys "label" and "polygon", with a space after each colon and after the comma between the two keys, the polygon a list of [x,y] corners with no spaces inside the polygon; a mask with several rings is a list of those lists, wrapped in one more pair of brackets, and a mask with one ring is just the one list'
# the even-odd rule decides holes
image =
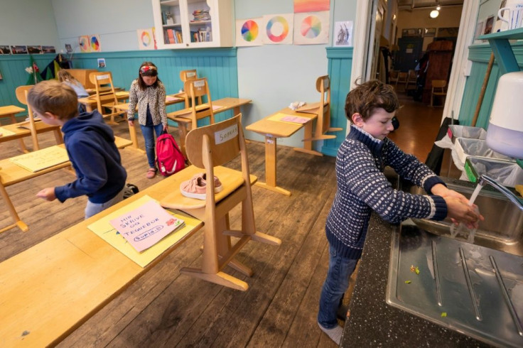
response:
{"label": "blue jeans of the boy washing his hands", "polygon": [[329,270],[321,289],[318,312],[318,322],[325,329],[333,329],[338,325],[336,311],[345,291],[349,288],[349,279],[357,264],[357,260],[338,256],[333,246],[329,246],[329,254]]}

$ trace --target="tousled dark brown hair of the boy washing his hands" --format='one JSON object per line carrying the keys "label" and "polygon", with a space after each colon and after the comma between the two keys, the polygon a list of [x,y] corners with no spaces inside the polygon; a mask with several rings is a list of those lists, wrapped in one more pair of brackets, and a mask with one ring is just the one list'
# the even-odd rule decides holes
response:
{"label": "tousled dark brown hair of the boy washing his hands", "polygon": [[360,114],[363,121],[367,121],[378,108],[386,112],[395,112],[399,109],[399,100],[394,87],[385,85],[379,80],[357,85],[345,99],[345,116],[351,122],[353,114]]}

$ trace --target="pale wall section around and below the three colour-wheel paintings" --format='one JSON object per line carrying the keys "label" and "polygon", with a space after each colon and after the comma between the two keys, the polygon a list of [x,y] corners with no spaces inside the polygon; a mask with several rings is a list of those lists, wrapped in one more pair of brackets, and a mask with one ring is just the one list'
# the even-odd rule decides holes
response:
{"label": "pale wall section around and below the three colour-wheel paintings", "polygon": [[[269,116],[291,102],[316,102],[316,78],[328,72],[326,48],[332,43],[335,21],[355,21],[356,0],[330,0],[330,43],[328,45],[262,45],[237,48],[240,98],[253,99],[244,124]],[[293,0],[234,1],[237,19],[269,14],[293,13]],[[318,100],[317,100],[318,99]],[[246,132],[247,138],[263,136]],[[303,131],[279,144],[303,146]],[[321,144],[317,142],[316,148]]]}

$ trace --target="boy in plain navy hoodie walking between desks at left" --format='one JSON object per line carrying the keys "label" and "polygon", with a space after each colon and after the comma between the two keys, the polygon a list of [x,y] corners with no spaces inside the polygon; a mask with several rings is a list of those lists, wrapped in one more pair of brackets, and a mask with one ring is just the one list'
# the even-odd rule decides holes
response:
{"label": "boy in plain navy hoodie walking between desks at left", "polygon": [[97,110],[78,114],[75,91],[56,80],[35,85],[27,101],[43,122],[62,126],[65,148],[77,175],[72,183],[44,188],[36,196],[64,202],[87,195],[85,219],[122,201],[127,173],[112,129],[102,115]]}

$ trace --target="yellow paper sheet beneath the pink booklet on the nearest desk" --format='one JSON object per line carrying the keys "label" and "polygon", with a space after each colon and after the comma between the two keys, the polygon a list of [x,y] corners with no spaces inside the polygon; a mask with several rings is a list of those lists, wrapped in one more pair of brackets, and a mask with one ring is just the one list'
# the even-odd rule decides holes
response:
{"label": "yellow paper sheet beneath the pink booklet on the nearest desk", "polygon": [[[161,239],[161,241],[158,241],[158,243],[154,244],[149,249],[139,253],[131,246],[131,244],[126,241],[126,239],[124,239],[121,234],[117,232],[116,229],[114,229],[114,227],[111,226],[109,221],[122,216],[122,214],[125,214],[126,212],[131,212],[131,210],[141,207],[146,202],[151,201],[156,202],[156,200],[153,200],[152,197],[144,195],[134,202],[129,202],[129,204],[121,207],[119,210],[115,210],[111,214],[107,214],[107,216],[98,219],[96,222],[93,222],[87,226],[87,228],[92,232],[95,232],[95,234],[104,239],[104,241],[107,241],[107,243],[111,244],[114,249],[120,251],[122,254],[131,259],[131,261],[134,261],[134,263],[141,267],[145,267],[154,261],[154,259],[156,259],[158,256],[163,254],[164,251],[177,244],[201,223],[200,220],[195,219],[194,217],[190,217],[189,215],[184,214],[183,212],[179,212],[178,210],[175,210],[174,212],[167,210],[168,214],[171,214],[178,219],[183,219],[183,221],[185,221],[185,226],[171,234],[168,234],[168,236]],[[127,202],[127,200],[124,202]]]}

